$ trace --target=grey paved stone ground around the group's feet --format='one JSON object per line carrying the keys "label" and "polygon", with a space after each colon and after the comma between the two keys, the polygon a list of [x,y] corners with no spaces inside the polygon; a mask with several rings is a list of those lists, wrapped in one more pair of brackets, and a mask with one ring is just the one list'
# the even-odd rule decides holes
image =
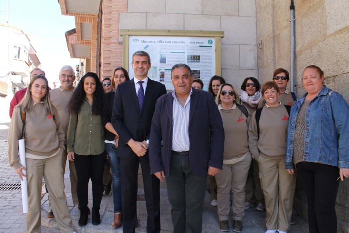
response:
{"label": "grey paved stone ground around the group's feet", "polygon": [[[8,166],[7,155],[7,133],[8,123],[0,123],[0,184],[3,183],[20,183],[19,178],[14,173],[13,169]],[[89,216],[88,224],[80,228],[78,226],[79,211],[77,206],[74,206],[71,200],[69,171],[65,171],[67,177],[65,181],[65,193],[68,200],[68,208],[73,220],[73,225],[77,233],[121,233],[122,228],[113,230],[111,224],[113,221],[113,197],[103,196],[101,203],[101,218],[102,223],[99,226],[91,224],[91,216]],[[165,187],[163,184],[162,187]],[[89,207],[92,207],[91,185],[89,187]],[[139,194],[143,194],[143,190],[139,189]],[[220,233],[217,208],[210,205],[210,196],[206,192],[205,202],[203,206],[203,233]],[[137,203],[138,218],[140,227],[136,229],[137,233],[146,232],[147,213],[144,201]],[[47,194],[44,194],[41,202],[41,224],[43,233],[58,233],[58,225],[54,219],[47,219],[46,213],[48,210]],[[232,212],[230,211],[230,218]],[[243,221],[243,233],[264,233],[265,228],[265,212],[259,212],[255,207],[246,210]],[[295,217],[296,225],[292,226],[289,233],[308,233],[308,225],[299,217]],[[231,222],[230,232],[232,231]],[[161,228],[162,233],[173,231],[171,221],[171,207],[167,197],[167,190],[161,189]],[[0,190],[0,233],[9,232],[25,232],[25,214],[22,213],[21,191],[20,190]]]}

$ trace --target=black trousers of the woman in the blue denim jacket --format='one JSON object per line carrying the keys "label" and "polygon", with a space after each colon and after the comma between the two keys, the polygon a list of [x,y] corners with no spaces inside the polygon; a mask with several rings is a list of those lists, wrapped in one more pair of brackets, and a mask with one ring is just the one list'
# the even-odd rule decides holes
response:
{"label": "black trousers of the woman in the blue denim jacket", "polygon": [[308,199],[309,233],[337,233],[339,168],[312,162],[299,162],[296,167]]}

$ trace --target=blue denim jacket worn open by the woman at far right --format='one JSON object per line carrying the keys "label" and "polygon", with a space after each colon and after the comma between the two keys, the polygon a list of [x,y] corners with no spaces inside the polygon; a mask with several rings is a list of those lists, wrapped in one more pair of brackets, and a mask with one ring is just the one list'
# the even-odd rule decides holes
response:
{"label": "blue denim jacket worn open by the woman at far right", "polygon": [[[349,105],[327,86],[309,103],[305,113],[304,161],[349,168]],[[331,92],[331,94],[329,94]],[[307,93],[292,105],[287,131],[286,169],[293,169],[296,119]]]}

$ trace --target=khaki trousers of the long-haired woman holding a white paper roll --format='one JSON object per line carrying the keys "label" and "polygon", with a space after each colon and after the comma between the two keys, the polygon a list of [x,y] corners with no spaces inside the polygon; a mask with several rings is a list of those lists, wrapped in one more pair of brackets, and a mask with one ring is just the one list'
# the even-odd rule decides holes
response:
{"label": "khaki trousers of the long-haired woman holding a white paper roll", "polygon": [[45,177],[46,187],[50,196],[53,213],[62,233],[73,232],[73,225],[68,211],[64,193],[62,171],[62,153],[47,159],[26,158],[28,205],[26,215],[26,231],[41,232],[41,184]]}

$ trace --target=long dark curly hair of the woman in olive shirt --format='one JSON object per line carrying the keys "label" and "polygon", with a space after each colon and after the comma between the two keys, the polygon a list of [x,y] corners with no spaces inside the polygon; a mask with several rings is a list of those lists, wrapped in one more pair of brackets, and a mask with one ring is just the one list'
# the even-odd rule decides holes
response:
{"label": "long dark curly hair of the woman in olive shirt", "polygon": [[92,114],[101,115],[103,109],[103,86],[99,80],[98,75],[93,72],[88,72],[82,76],[80,82],[74,90],[74,94],[68,103],[69,113],[78,114],[81,109],[82,103],[85,101],[86,93],[84,90],[84,81],[86,77],[92,77],[96,82],[96,90],[93,93]]}

